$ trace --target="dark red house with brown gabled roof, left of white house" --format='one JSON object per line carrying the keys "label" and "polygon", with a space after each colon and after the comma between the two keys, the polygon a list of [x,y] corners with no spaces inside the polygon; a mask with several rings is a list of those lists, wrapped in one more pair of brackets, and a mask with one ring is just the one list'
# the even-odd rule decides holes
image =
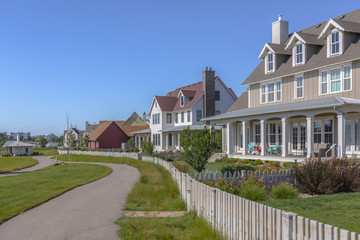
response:
{"label": "dark red house with brown gabled roof, left of white house", "polygon": [[133,136],[132,132],[148,129],[146,119],[133,113],[126,121],[100,121],[89,135],[90,149],[120,149]]}

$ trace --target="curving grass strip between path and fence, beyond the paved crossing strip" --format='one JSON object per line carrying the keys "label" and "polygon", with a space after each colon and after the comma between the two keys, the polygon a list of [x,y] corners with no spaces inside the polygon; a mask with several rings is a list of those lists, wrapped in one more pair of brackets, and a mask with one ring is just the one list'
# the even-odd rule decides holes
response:
{"label": "curving grass strip between path and fence, beyond the paved crossing strip", "polygon": [[[59,160],[67,161],[67,155],[60,155]],[[71,155],[73,162],[103,162],[127,164],[139,169],[140,180],[130,192],[125,210],[134,211],[182,211],[186,204],[180,197],[178,186],[165,168],[148,162],[125,157],[100,157]]]}

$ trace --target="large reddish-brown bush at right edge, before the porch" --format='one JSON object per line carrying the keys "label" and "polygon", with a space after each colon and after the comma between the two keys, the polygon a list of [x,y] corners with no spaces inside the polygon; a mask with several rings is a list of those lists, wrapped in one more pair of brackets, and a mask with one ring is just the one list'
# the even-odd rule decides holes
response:
{"label": "large reddish-brown bush at right edge, before the porch", "polygon": [[296,187],[303,193],[330,194],[360,191],[360,169],[350,161],[333,159],[307,160],[294,165],[291,174]]}

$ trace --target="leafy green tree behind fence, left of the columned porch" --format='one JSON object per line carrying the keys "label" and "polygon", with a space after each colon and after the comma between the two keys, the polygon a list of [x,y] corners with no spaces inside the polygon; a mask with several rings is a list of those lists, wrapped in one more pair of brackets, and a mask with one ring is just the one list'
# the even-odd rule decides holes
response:
{"label": "leafy green tree behind fence, left of the columned porch", "polygon": [[181,132],[180,145],[184,150],[184,160],[196,171],[201,172],[216,147],[215,128],[212,127],[210,130],[205,126],[204,129],[196,131],[186,128]]}

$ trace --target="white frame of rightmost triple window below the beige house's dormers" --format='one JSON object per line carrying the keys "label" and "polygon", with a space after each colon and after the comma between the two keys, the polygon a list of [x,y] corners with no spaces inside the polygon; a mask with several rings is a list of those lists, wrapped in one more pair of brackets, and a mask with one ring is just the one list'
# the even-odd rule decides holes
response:
{"label": "white frame of rightmost triple window below the beige house's dormers", "polygon": [[[349,67],[350,68],[350,89],[345,90],[345,68]],[[331,70],[335,70],[335,69],[339,69],[340,68],[340,91],[331,91]],[[322,73],[326,72],[326,84],[327,84],[327,89],[326,89],[326,93],[322,93]],[[337,65],[337,66],[332,66],[330,68],[323,68],[319,70],[319,96],[321,95],[328,95],[328,94],[336,94],[336,93],[341,93],[341,92],[349,92],[352,91],[352,84],[353,82],[353,75],[352,75],[352,64],[350,63],[345,63],[342,65]],[[325,82],[324,82],[325,83]]]}

